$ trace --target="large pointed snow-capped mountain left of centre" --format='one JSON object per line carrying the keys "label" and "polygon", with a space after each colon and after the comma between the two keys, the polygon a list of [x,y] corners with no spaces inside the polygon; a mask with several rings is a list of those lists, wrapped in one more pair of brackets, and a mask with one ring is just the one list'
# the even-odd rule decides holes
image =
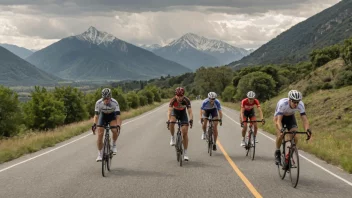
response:
{"label": "large pointed snow-capped mountain left of centre", "polygon": [[190,70],[94,27],[41,49],[30,63],[72,80],[150,79]]}

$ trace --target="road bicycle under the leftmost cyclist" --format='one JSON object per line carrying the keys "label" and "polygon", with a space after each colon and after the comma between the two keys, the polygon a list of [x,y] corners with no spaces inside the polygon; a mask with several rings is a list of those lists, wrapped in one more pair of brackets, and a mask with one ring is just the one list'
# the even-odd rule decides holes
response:
{"label": "road bicycle under the leftmost cyclist", "polygon": [[[111,168],[111,161],[113,157],[113,152],[111,150],[111,137],[110,137],[110,129],[112,128],[117,128],[117,127],[110,127],[110,122],[107,122],[104,124],[104,126],[99,127],[104,127],[105,129],[105,138],[104,138],[104,145],[103,145],[103,156],[101,160],[101,167],[102,167],[102,175],[103,177],[106,176],[106,172],[110,172]],[[120,131],[118,131],[118,135],[120,134]]]}

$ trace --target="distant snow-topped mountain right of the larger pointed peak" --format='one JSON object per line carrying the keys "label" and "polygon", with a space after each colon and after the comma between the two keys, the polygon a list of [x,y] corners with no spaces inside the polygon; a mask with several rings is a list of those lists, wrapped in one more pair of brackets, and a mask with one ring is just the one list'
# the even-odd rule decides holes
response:
{"label": "distant snow-topped mountain right of the larger pointed peak", "polygon": [[166,59],[178,62],[192,70],[201,66],[219,66],[247,56],[249,52],[220,40],[207,39],[187,33],[167,46],[153,50]]}

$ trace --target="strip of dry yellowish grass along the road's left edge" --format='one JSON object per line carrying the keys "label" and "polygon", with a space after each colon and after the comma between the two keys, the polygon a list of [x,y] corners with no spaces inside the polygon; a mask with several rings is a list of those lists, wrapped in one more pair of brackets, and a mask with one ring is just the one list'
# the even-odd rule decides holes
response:
{"label": "strip of dry yellowish grass along the road's left edge", "polygon": [[[162,102],[154,103],[153,105],[122,112],[122,120],[129,119],[150,111],[162,105],[166,101],[168,100],[162,100]],[[33,153],[43,148],[55,146],[55,144],[59,142],[87,132],[90,130],[91,125],[92,120],[86,120],[58,127],[47,132],[27,132],[24,135],[18,137],[0,140],[0,164],[16,159],[24,154]]]}

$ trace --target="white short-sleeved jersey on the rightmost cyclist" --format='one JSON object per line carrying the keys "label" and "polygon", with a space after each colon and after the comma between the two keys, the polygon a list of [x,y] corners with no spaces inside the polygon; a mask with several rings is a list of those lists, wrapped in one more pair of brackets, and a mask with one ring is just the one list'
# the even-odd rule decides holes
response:
{"label": "white short-sleeved jersey on the rightmost cyclist", "polygon": [[289,104],[289,98],[282,98],[281,100],[279,100],[279,102],[276,105],[274,116],[277,116],[277,115],[290,116],[290,115],[294,115],[296,111],[299,111],[301,115],[306,114],[304,103],[302,101],[299,101],[297,107],[295,109],[292,109]]}

